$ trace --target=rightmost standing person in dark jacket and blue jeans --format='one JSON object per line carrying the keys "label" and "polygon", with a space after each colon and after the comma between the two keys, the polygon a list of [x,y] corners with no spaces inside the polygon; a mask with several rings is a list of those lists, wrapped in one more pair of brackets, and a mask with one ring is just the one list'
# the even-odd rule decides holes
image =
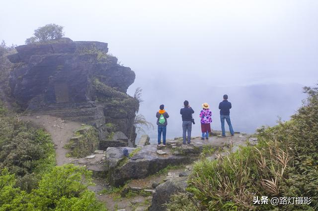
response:
{"label": "rightmost standing person in dark jacket and blue jeans", "polygon": [[225,137],[224,119],[227,121],[229,125],[231,135],[234,136],[234,130],[230,119],[230,108],[232,108],[232,104],[228,101],[228,95],[224,95],[223,101],[219,104],[223,137]]}

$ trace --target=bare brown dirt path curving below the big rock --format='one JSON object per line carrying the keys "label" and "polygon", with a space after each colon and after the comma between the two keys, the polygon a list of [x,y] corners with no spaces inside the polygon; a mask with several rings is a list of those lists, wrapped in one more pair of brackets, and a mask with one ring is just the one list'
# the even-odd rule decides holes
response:
{"label": "bare brown dirt path curving below the big rock", "polygon": [[63,147],[69,142],[73,132],[80,128],[81,124],[79,122],[65,121],[59,117],[49,115],[25,115],[20,116],[20,118],[44,127],[51,134],[55,145],[57,165],[71,163],[74,160],[74,158],[66,157],[68,150]]}

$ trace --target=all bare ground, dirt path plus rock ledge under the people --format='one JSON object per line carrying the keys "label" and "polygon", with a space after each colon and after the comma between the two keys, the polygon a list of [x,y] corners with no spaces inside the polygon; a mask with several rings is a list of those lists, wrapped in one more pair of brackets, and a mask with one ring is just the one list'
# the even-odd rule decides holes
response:
{"label": "all bare ground, dirt path plus rock ledge under the people", "polygon": [[[52,135],[58,165],[75,163],[93,171],[96,186],[89,189],[109,210],[164,210],[161,205],[171,194],[185,190],[195,160],[226,156],[247,142],[252,145],[257,142],[247,134],[220,137],[220,132],[214,131],[209,140],[193,137],[191,144],[186,145],[182,144],[181,138],[167,140],[166,147],[146,141],[145,146],[138,148],[109,147],[106,151],[96,150],[85,158],[68,158],[68,150],[63,147],[82,124],[49,115],[20,118],[41,125]],[[123,156],[124,148],[129,151],[128,158]]]}

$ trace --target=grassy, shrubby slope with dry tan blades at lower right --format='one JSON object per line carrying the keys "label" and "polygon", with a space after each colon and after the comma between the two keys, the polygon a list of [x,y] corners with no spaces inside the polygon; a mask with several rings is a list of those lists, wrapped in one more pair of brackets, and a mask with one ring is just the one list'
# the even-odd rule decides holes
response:
{"label": "grassy, shrubby slope with dry tan blades at lower right", "polygon": [[[305,88],[308,99],[290,121],[258,130],[259,144],[214,161],[195,164],[188,190],[200,209],[318,209],[318,88]],[[253,197],[311,197],[310,204],[253,205]],[[171,210],[187,210],[173,196]],[[304,198],[302,198],[304,199]]]}

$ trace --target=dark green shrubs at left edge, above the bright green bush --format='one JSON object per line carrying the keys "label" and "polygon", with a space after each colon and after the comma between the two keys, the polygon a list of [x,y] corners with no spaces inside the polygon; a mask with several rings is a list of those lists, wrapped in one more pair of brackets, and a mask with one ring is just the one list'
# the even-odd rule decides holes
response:
{"label": "dark green shrubs at left edge, above the bright green bush", "polygon": [[42,174],[55,166],[51,136],[9,116],[0,103],[0,169],[15,174],[22,190],[30,192]]}

